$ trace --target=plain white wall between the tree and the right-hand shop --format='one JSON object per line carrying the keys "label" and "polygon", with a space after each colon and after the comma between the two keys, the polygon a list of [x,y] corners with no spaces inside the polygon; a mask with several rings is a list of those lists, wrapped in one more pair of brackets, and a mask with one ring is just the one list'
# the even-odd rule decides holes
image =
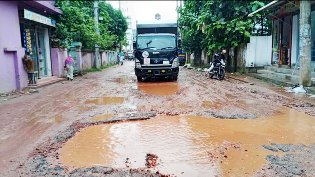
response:
{"label": "plain white wall between the tree and the right-hand shop", "polygon": [[272,36],[251,36],[247,44],[245,66],[271,64]]}

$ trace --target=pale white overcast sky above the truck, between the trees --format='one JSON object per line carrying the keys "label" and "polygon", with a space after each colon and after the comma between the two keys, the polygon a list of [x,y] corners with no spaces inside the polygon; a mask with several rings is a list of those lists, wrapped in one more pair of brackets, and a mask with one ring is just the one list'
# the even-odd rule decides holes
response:
{"label": "pale white overcast sky above the truck, between the trees", "polygon": [[[106,2],[119,9],[119,1]],[[123,14],[131,17],[132,29],[136,28],[136,20],[154,20],[156,13],[161,20],[177,20],[176,1],[120,1],[120,4]]]}

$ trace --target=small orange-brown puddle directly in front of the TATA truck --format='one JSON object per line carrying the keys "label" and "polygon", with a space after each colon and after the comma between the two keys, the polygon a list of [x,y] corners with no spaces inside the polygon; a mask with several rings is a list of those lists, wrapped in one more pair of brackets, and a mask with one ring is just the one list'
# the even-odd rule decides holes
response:
{"label": "small orange-brown puddle directly in front of the TATA truck", "polygon": [[175,94],[179,86],[178,85],[140,85],[138,84],[139,91],[142,91],[146,94],[154,94],[157,96],[167,96]]}

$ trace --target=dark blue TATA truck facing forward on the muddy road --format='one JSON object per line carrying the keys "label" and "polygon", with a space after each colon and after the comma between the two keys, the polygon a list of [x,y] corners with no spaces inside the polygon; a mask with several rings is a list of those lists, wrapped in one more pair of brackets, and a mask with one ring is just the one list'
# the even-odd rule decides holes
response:
{"label": "dark blue TATA truck facing forward on the muddy road", "polygon": [[181,41],[177,35],[176,20],[136,21],[133,48],[138,82],[144,77],[178,79]]}

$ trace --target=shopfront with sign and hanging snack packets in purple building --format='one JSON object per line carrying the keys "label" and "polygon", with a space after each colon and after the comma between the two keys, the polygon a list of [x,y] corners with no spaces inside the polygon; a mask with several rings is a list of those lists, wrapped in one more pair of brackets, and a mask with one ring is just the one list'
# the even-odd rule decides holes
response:
{"label": "shopfront with sign and hanging snack packets in purple building", "polygon": [[49,33],[55,21],[28,9],[19,9],[19,22],[21,46],[33,60],[38,78],[52,76]]}

